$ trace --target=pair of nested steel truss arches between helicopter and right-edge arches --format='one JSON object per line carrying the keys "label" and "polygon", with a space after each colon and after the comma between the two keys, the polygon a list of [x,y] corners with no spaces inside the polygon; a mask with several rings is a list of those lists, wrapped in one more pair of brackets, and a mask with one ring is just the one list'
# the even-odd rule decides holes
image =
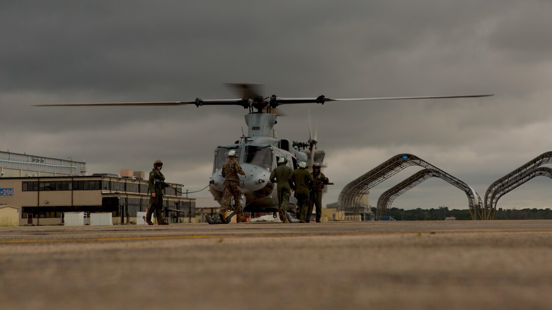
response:
{"label": "pair of nested steel truss arches between helicopter and right-edge arches", "polygon": [[374,186],[391,178],[393,175],[399,173],[401,170],[412,165],[418,165],[424,168],[424,170],[421,170],[420,172],[412,175],[410,178],[402,181],[401,183],[397,184],[396,186],[382,194],[380,196],[380,199],[378,200],[378,215],[376,216],[381,216],[382,211],[384,210],[380,208],[380,200],[390,200],[390,205],[392,200],[394,200],[396,196],[405,193],[406,191],[422,183],[422,181],[428,178],[438,177],[440,179],[443,179],[444,181],[447,181],[447,183],[463,190],[464,193],[466,193],[466,196],[468,196],[468,210],[474,220],[477,220],[478,217],[479,219],[484,218],[482,217],[485,212],[483,210],[483,202],[481,200],[481,197],[475,192],[473,188],[471,188],[471,186],[469,186],[464,181],[455,178],[453,175],[450,175],[443,170],[435,167],[434,165],[424,161],[420,157],[406,153],[397,154],[391,157],[390,159],[388,159],[388,161],[381,163],[380,165],[378,165],[378,167],[375,167],[369,172],[353,180],[351,183],[347,184],[341,191],[341,194],[339,194],[339,207],[346,212],[348,210],[357,209],[360,205],[360,200],[362,199],[362,196],[368,194],[368,191],[371,188],[374,188]]}

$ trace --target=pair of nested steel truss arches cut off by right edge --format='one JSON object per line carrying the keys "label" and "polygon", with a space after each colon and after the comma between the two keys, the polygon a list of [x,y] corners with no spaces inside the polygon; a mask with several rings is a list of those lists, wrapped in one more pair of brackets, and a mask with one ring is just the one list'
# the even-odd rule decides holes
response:
{"label": "pair of nested steel truss arches cut off by right edge", "polygon": [[548,163],[552,163],[552,151],[540,154],[492,183],[485,192],[485,218],[492,220],[495,217],[498,199],[509,191],[539,175],[548,177],[550,170],[539,168]]}

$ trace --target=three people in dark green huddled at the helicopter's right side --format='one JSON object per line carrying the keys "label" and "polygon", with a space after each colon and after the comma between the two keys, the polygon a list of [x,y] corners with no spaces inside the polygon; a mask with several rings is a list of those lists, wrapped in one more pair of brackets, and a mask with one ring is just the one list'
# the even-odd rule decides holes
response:
{"label": "three people in dark green huddled at the helicopter's right side", "polygon": [[272,170],[270,181],[277,183],[278,187],[278,213],[280,220],[284,223],[289,222],[285,216],[288,210],[289,197],[291,191],[295,191],[297,199],[296,218],[301,223],[309,223],[312,209],[316,205],[316,222],[320,223],[322,216],[322,190],[325,184],[328,184],[328,178],[321,172],[320,163],[312,165],[312,173],[307,170],[307,163],[301,161],[298,163],[299,169],[292,170],[285,157],[278,159],[278,167]]}

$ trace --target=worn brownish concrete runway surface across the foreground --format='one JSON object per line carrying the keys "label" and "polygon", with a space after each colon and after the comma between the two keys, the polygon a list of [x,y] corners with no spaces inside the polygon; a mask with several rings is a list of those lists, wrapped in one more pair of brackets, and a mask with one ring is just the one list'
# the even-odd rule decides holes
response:
{"label": "worn brownish concrete runway surface across the foreground", "polygon": [[0,308],[550,309],[552,221],[0,228]]}

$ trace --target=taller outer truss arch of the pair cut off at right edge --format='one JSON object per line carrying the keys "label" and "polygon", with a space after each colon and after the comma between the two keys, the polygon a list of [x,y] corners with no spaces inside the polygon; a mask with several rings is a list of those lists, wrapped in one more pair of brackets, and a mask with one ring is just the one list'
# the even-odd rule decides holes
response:
{"label": "taller outer truss arch of the pair cut off at right edge", "polygon": [[495,196],[498,192],[500,192],[501,188],[508,186],[508,184],[512,182],[516,183],[518,180],[522,180],[525,175],[530,173],[535,168],[548,163],[552,163],[552,151],[540,154],[527,163],[521,165],[516,170],[513,170],[512,172],[506,174],[504,177],[493,182],[485,192],[485,218],[487,220],[492,220],[492,218],[495,216]]}

